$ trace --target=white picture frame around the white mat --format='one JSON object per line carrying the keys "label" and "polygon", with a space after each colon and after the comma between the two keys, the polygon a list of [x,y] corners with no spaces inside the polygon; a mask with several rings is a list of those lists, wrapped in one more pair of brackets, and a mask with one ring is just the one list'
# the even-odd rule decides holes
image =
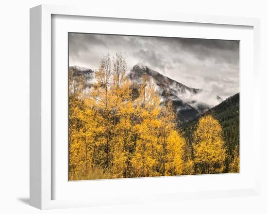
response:
{"label": "white picture frame around the white mat", "polygon": [[[76,15],[120,19],[155,20],[166,22],[203,23],[253,28],[253,151],[254,163],[260,161],[260,93],[259,52],[260,21],[255,18],[239,18],[207,15],[182,15],[170,13],[138,13],[136,11],[102,11],[68,6],[39,5],[30,10],[30,205],[39,209],[113,205],[151,201],[175,201],[179,199],[220,198],[252,196],[260,194],[260,164],[255,164],[254,183],[249,188],[158,193],[140,197],[116,195],[113,200],[53,199],[53,147],[52,139],[52,15]],[[257,124],[257,126],[256,126]],[[241,153],[242,155],[242,153]],[[118,180],[117,180],[118,181]],[[102,182],[102,181],[98,181]],[[142,181],[141,181],[142,182]],[[142,199],[140,199],[142,198]]]}

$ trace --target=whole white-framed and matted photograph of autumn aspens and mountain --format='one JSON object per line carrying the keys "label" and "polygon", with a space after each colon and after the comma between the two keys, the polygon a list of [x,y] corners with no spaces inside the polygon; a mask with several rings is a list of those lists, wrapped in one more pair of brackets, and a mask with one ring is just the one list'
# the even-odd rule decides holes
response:
{"label": "whole white-framed and matted photograph of autumn aspens and mountain", "polygon": [[258,19],[30,17],[32,206],[259,194]]}

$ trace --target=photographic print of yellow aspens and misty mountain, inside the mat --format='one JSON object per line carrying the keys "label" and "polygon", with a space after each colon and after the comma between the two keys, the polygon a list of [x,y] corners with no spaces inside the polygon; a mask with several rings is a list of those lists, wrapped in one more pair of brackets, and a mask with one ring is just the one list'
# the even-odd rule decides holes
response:
{"label": "photographic print of yellow aspens and misty mountain, inside the mat", "polygon": [[239,41],[68,33],[69,181],[239,172]]}

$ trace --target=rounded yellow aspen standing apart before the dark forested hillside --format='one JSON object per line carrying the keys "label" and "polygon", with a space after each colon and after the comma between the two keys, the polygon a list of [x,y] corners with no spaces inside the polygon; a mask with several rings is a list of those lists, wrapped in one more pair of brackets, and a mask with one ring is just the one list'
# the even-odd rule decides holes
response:
{"label": "rounded yellow aspen standing apart before the dark forested hillside", "polygon": [[225,169],[226,149],[220,123],[211,115],[201,117],[193,139],[196,173],[222,173]]}

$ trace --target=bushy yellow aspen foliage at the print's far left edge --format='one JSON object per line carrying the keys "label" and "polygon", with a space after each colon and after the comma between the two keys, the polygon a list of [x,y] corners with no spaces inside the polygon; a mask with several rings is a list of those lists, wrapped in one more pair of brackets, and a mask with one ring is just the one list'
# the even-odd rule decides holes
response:
{"label": "bushy yellow aspen foliage at the print's far left edge", "polygon": [[72,99],[69,99],[69,174],[70,179],[71,176],[85,179],[96,160],[99,145],[96,136],[102,134],[99,129],[101,120],[86,102],[77,100],[78,106],[72,109]]}

